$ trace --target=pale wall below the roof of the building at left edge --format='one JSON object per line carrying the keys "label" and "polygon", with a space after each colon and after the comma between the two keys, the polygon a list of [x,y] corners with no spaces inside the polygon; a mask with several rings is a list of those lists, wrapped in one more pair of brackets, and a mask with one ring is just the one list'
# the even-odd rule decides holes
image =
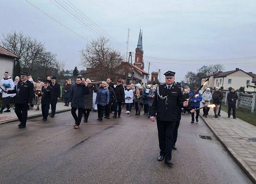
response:
{"label": "pale wall below the roof of the building at left edge", "polygon": [[9,72],[12,77],[14,58],[0,56],[0,78],[4,77],[5,72]]}

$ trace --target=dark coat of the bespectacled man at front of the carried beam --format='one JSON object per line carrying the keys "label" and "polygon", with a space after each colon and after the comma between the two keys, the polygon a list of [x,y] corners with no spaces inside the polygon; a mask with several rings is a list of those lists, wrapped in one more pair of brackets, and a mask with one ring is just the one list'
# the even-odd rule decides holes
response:
{"label": "dark coat of the bespectacled man at front of the carried beam", "polygon": [[89,87],[85,87],[81,84],[74,84],[72,86],[69,102],[71,102],[71,107],[84,108],[85,107],[85,95],[89,94]]}

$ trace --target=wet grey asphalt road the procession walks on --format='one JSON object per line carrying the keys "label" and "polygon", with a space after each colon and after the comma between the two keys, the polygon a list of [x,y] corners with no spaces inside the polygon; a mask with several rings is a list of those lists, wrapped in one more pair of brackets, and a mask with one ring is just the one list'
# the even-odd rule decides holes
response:
{"label": "wet grey asphalt road the procession walks on", "polygon": [[[0,184],[251,184],[202,120],[182,116],[173,167],[157,161],[156,123],[126,115],[73,129],[71,112],[0,125]],[[208,135],[205,140],[199,135]]]}

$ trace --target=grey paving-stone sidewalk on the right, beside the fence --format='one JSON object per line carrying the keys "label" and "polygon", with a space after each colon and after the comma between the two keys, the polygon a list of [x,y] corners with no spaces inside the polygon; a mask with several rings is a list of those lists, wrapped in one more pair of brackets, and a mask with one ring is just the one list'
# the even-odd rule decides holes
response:
{"label": "grey paving-stone sidewalk on the right, beside the fence", "polygon": [[232,116],[228,118],[224,111],[220,115],[214,118],[213,109],[210,109],[208,118],[200,114],[229,154],[256,183],[256,142],[246,140],[256,138],[256,127],[238,118],[233,119]]}

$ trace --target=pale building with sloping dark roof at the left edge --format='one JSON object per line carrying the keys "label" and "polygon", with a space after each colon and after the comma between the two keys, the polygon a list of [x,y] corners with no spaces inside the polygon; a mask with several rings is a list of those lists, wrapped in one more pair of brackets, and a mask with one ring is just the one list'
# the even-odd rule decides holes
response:
{"label": "pale building with sloping dark roof at the left edge", "polygon": [[13,76],[14,73],[14,65],[16,59],[19,57],[12,52],[6,50],[4,47],[0,46],[0,76],[4,76],[4,73],[7,71],[12,79],[15,77]]}

